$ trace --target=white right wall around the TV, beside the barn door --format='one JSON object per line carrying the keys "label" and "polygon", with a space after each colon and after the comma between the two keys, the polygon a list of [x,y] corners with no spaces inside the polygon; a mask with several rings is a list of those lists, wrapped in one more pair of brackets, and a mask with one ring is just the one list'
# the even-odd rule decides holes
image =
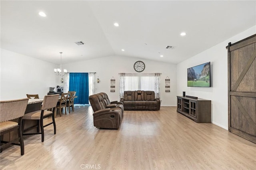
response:
{"label": "white right wall around the TV, beside the barn door", "polygon": [[[177,95],[196,96],[212,101],[212,123],[228,129],[228,51],[229,42],[235,43],[256,34],[256,26],[221,42],[186,61],[177,64]],[[209,40],[210,41],[210,40]],[[187,87],[187,68],[211,62],[212,87]]]}

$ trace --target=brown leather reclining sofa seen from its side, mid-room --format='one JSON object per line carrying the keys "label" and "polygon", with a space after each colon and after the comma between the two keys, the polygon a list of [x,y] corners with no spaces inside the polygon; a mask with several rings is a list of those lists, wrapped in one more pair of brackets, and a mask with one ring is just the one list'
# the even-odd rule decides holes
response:
{"label": "brown leather reclining sofa seen from its side, mid-room", "polygon": [[89,96],[89,101],[94,111],[93,124],[99,128],[118,129],[120,127],[124,107],[120,102],[111,103],[106,93]]}

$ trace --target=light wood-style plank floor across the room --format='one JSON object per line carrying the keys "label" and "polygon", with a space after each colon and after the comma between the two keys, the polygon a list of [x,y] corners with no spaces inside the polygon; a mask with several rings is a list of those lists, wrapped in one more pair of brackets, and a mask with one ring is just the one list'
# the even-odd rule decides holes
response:
{"label": "light wood-style plank floor across the room", "polygon": [[53,127],[26,140],[25,154],[12,146],[0,155],[0,169],[220,170],[256,168],[256,144],[214,124],[195,123],[176,113],[124,111],[118,130],[93,126],[92,108],[57,115]]}

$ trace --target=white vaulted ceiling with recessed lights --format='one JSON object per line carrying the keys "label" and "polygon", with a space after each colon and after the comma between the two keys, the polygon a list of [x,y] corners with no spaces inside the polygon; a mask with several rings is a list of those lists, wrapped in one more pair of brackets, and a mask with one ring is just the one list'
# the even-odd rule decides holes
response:
{"label": "white vaulted ceiling with recessed lights", "polygon": [[62,63],[110,55],[179,63],[255,25],[255,0],[1,0],[1,48],[56,64],[60,51]]}

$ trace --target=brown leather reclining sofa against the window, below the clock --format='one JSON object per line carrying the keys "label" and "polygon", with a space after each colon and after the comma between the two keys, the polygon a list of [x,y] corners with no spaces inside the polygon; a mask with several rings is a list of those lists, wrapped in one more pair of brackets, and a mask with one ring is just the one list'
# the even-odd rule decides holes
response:
{"label": "brown leather reclining sofa against the window, below the clock", "polygon": [[124,91],[124,110],[160,110],[160,99],[155,99],[154,91]]}

